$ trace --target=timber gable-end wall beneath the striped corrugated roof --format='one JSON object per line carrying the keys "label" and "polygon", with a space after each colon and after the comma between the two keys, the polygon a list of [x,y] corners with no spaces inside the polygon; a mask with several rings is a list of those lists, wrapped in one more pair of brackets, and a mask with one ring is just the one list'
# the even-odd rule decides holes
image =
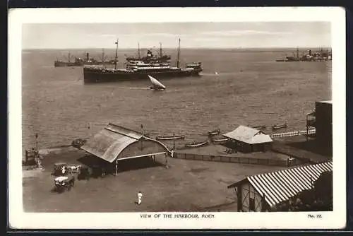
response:
{"label": "timber gable-end wall beneath the striped corrugated roof", "polygon": [[244,182],[238,189],[240,190],[238,190],[238,211],[262,211],[263,202],[261,195],[249,182]]}

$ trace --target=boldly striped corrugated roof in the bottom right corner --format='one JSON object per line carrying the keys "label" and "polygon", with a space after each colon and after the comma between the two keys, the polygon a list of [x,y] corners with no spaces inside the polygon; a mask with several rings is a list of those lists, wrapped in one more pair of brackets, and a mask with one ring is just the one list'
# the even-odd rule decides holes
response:
{"label": "boldly striped corrugated roof in the bottom right corner", "polygon": [[289,200],[300,191],[311,189],[312,183],[320,177],[322,172],[332,170],[332,161],[315,165],[304,165],[287,170],[249,176],[240,182],[229,185],[228,188],[237,187],[247,180],[271,207],[282,201]]}

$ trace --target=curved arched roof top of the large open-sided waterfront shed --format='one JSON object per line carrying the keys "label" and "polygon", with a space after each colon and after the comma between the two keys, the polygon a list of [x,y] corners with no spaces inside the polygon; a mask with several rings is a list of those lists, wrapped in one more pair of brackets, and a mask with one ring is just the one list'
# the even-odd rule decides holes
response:
{"label": "curved arched roof top of the large open-sided waterfront shed", "polygon": [[142,137],[142,134],[131,129],[109,124],[98,134],[88,139],[81,149],[112,163],[124,148]]}

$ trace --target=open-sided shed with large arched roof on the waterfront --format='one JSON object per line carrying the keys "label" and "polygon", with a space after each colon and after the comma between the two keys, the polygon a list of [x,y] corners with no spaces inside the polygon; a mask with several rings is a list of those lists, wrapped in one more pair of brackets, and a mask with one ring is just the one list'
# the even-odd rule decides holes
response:
{"label": "open-sided shed with large arched roof on the waterfront", "polygon": [[143,132],[111,123],[89,138],[81,149],[104,160],[107,165],[115,165],[115,172],[119,160],[156,155],[164,155],[167,158],[169,154],[169,149],[160,141],[148,138]]}

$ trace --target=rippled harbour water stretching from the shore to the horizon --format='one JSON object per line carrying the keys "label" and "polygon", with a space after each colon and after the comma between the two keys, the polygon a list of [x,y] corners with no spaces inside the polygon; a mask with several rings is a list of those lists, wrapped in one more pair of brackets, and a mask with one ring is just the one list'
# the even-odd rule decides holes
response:
{"label": "rippled harbour water stretching from the shore to the horizon", "polygon": [[[173,50],[166,50],[172,54]],[[203,134],[223,133],[239,124],[287,123],[305,129],[305,113],[316,100],[331,98],[331,62],[276,62],[291,51],[182,49],[181,65],[201,61],[202,76],[161,80],[167,90],[149,90],[145,81],[83,84],[82,67],[54,68],[68,50],[27,50],[22,54],[23,148],[49,148],[87,138],[108,122],[151,136],[184,134],[185,142],[203,141]],[[71,50],[83,57],[85,50]],[[88,50],[99,59],[100,50]],[[114,49],[105,52],[109,59]],[[119,50],[119,67],[124,66]],[[217,72],[217,74],[215,74]],[[90,129],[88,129],[88,126]]]}

